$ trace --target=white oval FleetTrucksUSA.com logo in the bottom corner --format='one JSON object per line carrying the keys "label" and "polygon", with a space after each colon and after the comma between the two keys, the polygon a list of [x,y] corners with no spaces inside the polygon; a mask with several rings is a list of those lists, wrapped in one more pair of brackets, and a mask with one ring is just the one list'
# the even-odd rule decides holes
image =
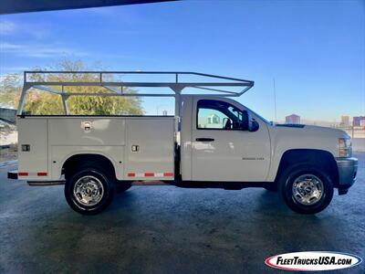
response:
{"label": "white oval FleetTrucksUSA.com logo in the bottom corner", "polygon": [[356,255],[332,251],[306,251],[275,255],[266,258],[267,266],[275,269],[320,271],[348,269],[360,265],[362,258]]}

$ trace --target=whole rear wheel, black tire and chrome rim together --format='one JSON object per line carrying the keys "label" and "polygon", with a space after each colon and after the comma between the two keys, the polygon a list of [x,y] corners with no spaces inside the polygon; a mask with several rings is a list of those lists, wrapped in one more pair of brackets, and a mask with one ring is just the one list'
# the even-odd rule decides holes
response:
{"label": "whole rear wheel, black tire and chrome rim together", "polygon": [[114,185],[108,174],[89,167],[68,176],[65,197],[68,205],[80,214],[95,215],[110,205]]}

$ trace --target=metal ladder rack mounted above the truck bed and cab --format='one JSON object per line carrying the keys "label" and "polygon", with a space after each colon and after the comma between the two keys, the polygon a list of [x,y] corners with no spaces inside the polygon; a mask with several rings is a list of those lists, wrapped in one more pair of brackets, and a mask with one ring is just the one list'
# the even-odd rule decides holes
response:
{"label": "metal ladder rack mounted above the truck bed and cab", "polygon": [[[69,76],[92,76],[92,81],[55,81],[48,80],[51,76],[69,75]],[[113,80],[114,77],[126,76],[143,76],[153,75],[160,77],[170,77],[168,81],[121,81]],[[36,80],[31,77],[37,76]],[[203,80],[192,81],[182,78],[202,78]],[[107,79],[108,78],[108,79]],[[40,80],[39,80],[40,79]],[[60,90],[52,89],[52,87],[60,87]],[[183,91],[186,88],[195,90],[212,91],[209,95],[239,97],[245,91],[254,86],[254,81],[245,79],[229,78],[224,76],[204,74],[198,72],[186,71],[25,71],[24,86],[19,100],[17,114],[21,115],[24,109],[26,92],[30,89],[43,90],[54,93],[62,98],[63,108],[68,115],[67,100],[70,96],[133,96],[133,97],[174,97],[175,98],[175,116],[180,117],[181,114],[181,96],[186,94]],[[65,87],[100,87],[105,92],[66,92]],[[240,91],[222,90],[222,88],[235,87],[242,88]],[[117,89],[118,88],[118,89]],[[172,93],[131,93],[125,92],[123,88],[169,88]],[[111,92],[110,92],[111,91]],[[206,93],[205,93],[206,94]],[[202,95],[202,93],[189,93],[189,95]]]}

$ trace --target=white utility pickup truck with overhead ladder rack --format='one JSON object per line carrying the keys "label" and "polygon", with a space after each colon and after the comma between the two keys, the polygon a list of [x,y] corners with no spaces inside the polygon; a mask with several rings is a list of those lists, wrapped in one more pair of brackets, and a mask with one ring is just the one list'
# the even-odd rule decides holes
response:
{"label": "white utility pickup truck with overhead ladder rack", "polygon": [[[114,192],[132,184],[278,190],[297,213],[315,214],[330,203],[334,188],[348,192],[358,160],[349,135],[308,125],[273,125],[229,97],[254,82],[193,72],[83,71],[91,82],[28,80],[17,116],[18,171],[9,178],[31,185],[65,184],[65,196],[81,214],[97,214]],[[52,73],[75,73],[47,71]],[[108,74],[173,76],[173,81],[106,81]],[[205,79],[182,81],[183,77]],[[52,89],[57,86],[62,89]],[[69,93],[69,86],[98,86],[103,93]],[[123,92],[124,87],[169,88],[172,94]],[[217,89],[220,88],[220,89]],[[242,88],[241,91],[222,90]],[[120,90],[116,90],[120,88]],[[26,115],[26,91],[61,96],[64,115]],[[189,89],[211,94],[183,94]],[[68,115],[70,96],[158,96],[175,98],[175,116]]]}

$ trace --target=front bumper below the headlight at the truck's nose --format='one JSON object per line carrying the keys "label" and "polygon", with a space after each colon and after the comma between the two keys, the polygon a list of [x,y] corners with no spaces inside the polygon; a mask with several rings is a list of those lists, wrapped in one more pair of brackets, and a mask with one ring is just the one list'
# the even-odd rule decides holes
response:
{"label": "front bumper below the headlight at the truck's nose", "polygon": [[356,158],[337,158],[339,170],[339,195],[347,194],[349,187],[355,183],[358,174],[358,159]]}

